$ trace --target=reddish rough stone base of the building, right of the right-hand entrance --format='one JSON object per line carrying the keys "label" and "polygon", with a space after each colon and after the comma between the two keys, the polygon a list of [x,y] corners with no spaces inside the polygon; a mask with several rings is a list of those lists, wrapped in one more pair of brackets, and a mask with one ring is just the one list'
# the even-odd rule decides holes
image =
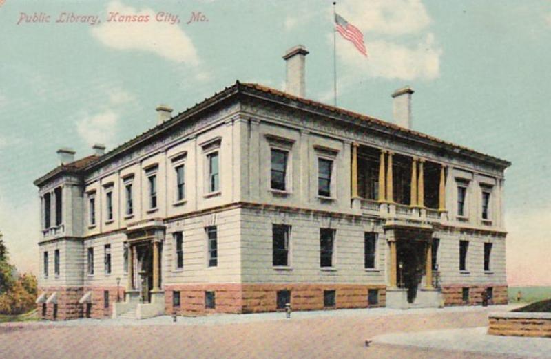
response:
{"label": "reddish rough stone base of the building, right of the right-hand entrance", "polygon": [[[463,288],[469,288],[468,301],[463,300]],[[468,285],[468,284],[454,284],[454,285],[442,285],[442,294],[444,295],[444,305],[481,305],[482,304],[482,292],[486,288],[493,288],[493,298],[488,301],[488,304],[507,304],[508,294],[507,285],[492,285],[492,284],[480,284],[480,285]]]}

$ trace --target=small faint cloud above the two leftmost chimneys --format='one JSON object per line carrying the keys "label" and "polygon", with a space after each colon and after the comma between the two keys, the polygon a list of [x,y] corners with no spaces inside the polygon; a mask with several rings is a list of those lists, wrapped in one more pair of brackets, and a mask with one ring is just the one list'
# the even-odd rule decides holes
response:
{"label": "small faint cloud above the two leftmost chimneys", "polygon": [[118,114],[112,110],[94,116],[85,116],[76,122],[76,132],[88,146],[96,143],[113,146],[118,117]]}

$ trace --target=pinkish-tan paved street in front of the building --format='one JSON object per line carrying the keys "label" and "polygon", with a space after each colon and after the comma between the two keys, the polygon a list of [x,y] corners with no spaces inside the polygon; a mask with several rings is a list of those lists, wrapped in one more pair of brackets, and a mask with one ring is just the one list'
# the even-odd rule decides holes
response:
{"label": "pinkish-tan paved street in front of the building", "polygon": [[[490,307],[489,310],[503,310]],[[0,330],[0,358],[517,358],[438,348],[372,344],[395,332],[486,325],[488,309],[446,308],[162,317],[132,322],[76,320]],[[1,327],[0,327],[1,329]]]}

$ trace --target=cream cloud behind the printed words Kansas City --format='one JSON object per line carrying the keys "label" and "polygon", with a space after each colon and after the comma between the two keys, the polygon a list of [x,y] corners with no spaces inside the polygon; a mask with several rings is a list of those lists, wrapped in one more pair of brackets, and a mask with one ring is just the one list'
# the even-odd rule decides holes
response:
{"label": "cream cloud behind the printed words Kansas City", "polygon": [[117,50],[139,50],[152,52],[176,63],[198,65],[196,48],[189,36],[178,24],[158,22],[156,12],[151,8],[136,10],[119,1],[107,5],[107,19],[110,13],[124,16],[148,15],[147,23],[103,22],[92,28],[92,35],[103,45]]}

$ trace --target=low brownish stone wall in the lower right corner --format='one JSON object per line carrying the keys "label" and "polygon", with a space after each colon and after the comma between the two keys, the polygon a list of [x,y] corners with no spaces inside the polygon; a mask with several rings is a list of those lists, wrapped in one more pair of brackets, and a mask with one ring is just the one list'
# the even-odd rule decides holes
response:
{"label": "low brownish stone wall in the lower right corner", "polygon": [[488,334],[497,336],[540,336],[551,338],[549,313],[490,314]]}

